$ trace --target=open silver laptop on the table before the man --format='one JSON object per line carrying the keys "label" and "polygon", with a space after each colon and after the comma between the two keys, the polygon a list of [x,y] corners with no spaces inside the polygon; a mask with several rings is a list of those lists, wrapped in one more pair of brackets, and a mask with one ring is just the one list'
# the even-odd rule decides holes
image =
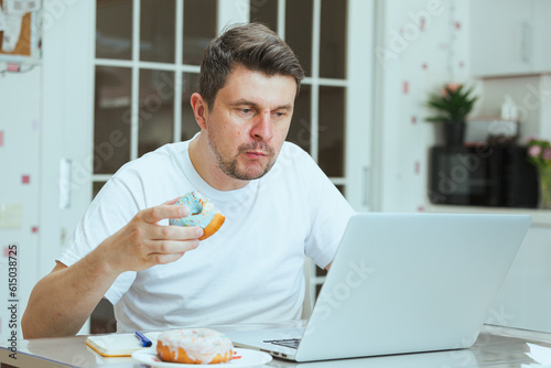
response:
{"label": "open silver laptop on the table before the man", "polygon": [[354,215],[305,328],[227,333],[295,361],[472,346],[529,215]]}

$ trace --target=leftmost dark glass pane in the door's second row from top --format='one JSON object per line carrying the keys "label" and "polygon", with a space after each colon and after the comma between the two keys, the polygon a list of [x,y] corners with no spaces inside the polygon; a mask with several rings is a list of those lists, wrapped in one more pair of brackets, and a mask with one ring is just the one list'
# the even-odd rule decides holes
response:
{"label": "leftmost dark glass pane in the door's second row from top", "polygon": [[96,67],[94,173],[114,174],[130,160],[131,71]]}

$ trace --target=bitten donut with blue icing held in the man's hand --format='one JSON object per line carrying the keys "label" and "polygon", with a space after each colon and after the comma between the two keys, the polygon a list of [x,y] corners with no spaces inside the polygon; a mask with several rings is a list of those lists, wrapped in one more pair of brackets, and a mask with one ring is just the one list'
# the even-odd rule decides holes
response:
{"label": "bitten donut with blue icing held in the man's hand", "polygon": [[201,226],[204,230],[199,240],[205,240],[220,228],[226,217],[216,209],[214,204],[204,197],[199,191],[190,192],[183,197],[180,197],[176,205],[186,206],[190,210],[190,216],[182,218],[171,218],[170,225],[176,226]]}

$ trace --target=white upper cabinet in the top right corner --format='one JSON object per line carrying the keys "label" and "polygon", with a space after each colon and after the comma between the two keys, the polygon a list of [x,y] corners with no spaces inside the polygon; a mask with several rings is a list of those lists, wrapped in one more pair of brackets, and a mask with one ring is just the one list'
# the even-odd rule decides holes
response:
{"label": "white upper cabinet in the top right corner", "polygon": [[551,72],[551,1],[476,0],[471,3],[475,76]]}

